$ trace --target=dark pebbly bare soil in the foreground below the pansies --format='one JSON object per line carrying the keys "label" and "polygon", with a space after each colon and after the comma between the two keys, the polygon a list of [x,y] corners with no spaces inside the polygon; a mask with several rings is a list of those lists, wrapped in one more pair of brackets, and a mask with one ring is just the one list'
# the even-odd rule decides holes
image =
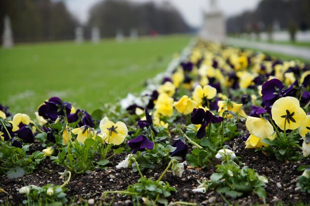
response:
{"label": "dark pebbly bare soil in the foreground below the pansies", "polygon": [[[240,125],[239,131],[245,133],[244,125]],[[275,205],[277,202],[283,202],[285,205],[294,205],[296,203],[310,203],[310,195],[301,193],[300,188],[296,188],[297,178],[302,172],[297,171],[301,165],[309,165],[310,161],[301,160],[298,162],[282,162],[274,157],[266,156],[261,152],[255,152],[253,149],[244,149],[245,138],[238,137],[232,141],[225,142],[229,149],[233,150],[243,165],[256,169],[259,175],[268,177],[269,183],[265,190],[267,192],[266,202],[269,205]],[[71,181],[66,186],[67,197],[73,200],[74,204],[87,203],[90,199],[95,200],[95,205],[132,205],[131,197],[122,197],[121,195],[110,195],[108,199],[101,199],[103,191],[125,190],[129,184],[134,184],[139,179],[138,172],[133,172],[131,168],[117,169],[115,165],[124,159],[126,154],[114,156],[106,170],[96,169],[90,174],[72,174]],[[59,179],[57,172],[63,171],[64,168],[51,163],[50,159],[45,159],[39,167],[29,175],[23,178],[9,180],[5,175],[0,178],[0,188],[6,193],[0,194],[0,204],[5,199],[11,205],[18,205],[25,199],[19,194],[18,190],[22,186],[33,184],[44,186],[48,183],[61,185],[64,179]],[[172,193],[169,202],[184,201],[197,203],[199,205],[226,205],[220,195],[215,191],[207,191],[206,194],[193,193],[192,189],[196,188],[199,183],[197,180],[209,178],[214,173],[215,168],[187,168],[182,178],[177,178],[168,171],[163,181],[168,181],[171,186],[177,189]],[[146,174],[148,177],[157,179],[160,173]],[[247,194],[238,199],[227,198],[228,202],[233,205],[253,205],[263,204],[262,200],[255,194]]]}

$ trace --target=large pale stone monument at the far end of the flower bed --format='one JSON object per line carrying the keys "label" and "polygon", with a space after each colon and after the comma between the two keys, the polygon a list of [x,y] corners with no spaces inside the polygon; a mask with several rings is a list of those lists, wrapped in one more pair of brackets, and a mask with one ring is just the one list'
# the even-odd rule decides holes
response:
{"label": "large pale stone monument at the far end of the flower bed", "polygon": [[218,8],[216,0],[209,0],[209,8],[205,12],[204,19],[200,36],[213,42],[224,42],[226,39],[226,20],[223,12]]}

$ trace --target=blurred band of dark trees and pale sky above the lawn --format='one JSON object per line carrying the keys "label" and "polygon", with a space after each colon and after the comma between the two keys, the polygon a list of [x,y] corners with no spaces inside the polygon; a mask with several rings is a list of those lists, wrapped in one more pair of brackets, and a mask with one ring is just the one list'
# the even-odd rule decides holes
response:
{"label": "blurred band of dark trees and pale sky above the lawn", "polygon": [[[310,28],[309,0],[218,0],[217,6],[228,34],[275,32],[288,41],[289,34],[281,31],[298,34]],[[72,40],[77,26],[85,39],[91,39],[93,27],[101,38],[117,31],[130,36],[133,29],[139,36],[196,33],[208,7],[208,0],[0,0],[0,33],[6,15],[16,43]]]}

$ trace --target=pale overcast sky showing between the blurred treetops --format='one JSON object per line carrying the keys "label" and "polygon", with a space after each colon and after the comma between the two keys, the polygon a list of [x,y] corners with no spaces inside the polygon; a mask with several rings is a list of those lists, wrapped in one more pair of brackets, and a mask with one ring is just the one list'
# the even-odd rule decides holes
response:
{"label": "pale overcast sky showing between the blurred treetops", "polygon": [[[86,22],[88,11],[96,2],[101,0],[65,0],[69,10],[81,21]],[[150,0],[131,0],[147,2]],[[160,2],[163,0],[153,0]],[[203,22],[203,11],[207,10],[209,0],[168,0],[181,12],[184,19],[192,26],[199,27]],[[218,7],[225,16],[253,10],[260,0],[217,0]]]}

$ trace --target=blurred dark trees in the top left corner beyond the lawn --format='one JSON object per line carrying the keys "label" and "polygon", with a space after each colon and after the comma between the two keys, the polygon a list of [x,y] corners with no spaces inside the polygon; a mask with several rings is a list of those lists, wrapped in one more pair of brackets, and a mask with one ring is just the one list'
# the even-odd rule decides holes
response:
{"label": "blurred dark trees in the top left corner beyond the lawn", "polygon": [[0,34],[6,14],[15,42],[73,39],[78,24],[62,1],[0,0]]}

